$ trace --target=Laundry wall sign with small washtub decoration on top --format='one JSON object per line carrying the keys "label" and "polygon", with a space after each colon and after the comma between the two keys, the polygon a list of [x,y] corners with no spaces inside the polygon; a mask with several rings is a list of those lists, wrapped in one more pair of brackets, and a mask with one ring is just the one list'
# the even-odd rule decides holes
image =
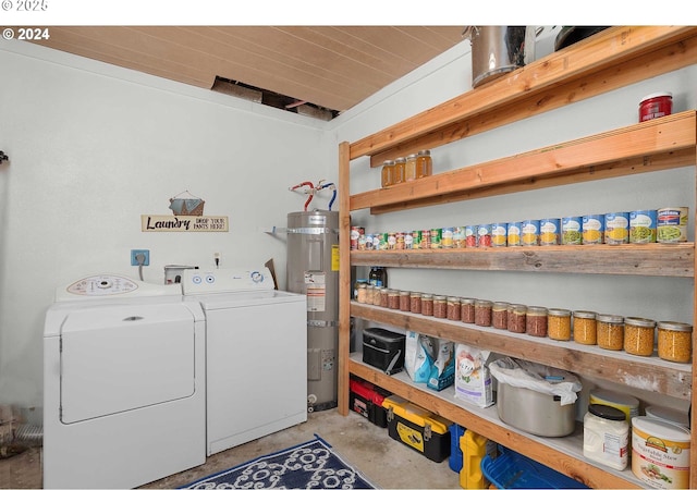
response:
{"label": "Laundry wall sign with small washtub decoration on top", "polygon": [[227,232],[227,216],[204,216],[206,201],[188,191],[170,198],[172,215],[140,215],[144,232]]}

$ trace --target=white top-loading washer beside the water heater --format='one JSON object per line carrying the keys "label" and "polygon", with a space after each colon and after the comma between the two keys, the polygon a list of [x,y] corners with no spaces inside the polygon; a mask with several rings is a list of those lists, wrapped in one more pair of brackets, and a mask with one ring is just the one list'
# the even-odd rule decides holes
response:
{"label": "white top-loading washer beside the water heater", "polygon": [[206,315],[206,448],[211,455],[307,420],[307,298],[267,268],[185,270]]}

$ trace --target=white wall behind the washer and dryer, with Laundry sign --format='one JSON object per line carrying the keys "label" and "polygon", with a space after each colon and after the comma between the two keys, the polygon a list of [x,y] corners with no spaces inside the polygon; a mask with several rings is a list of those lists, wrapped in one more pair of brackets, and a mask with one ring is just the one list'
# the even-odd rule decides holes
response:
{"label": "white wall behind the washer and dryer, with Laundry sign", "polygon": [[[56,287],[83,277],[144,279],[169,264],[274,260],[285,285],[285,226],[307,196],[289,187],[335,173],[326,123],[205,89],[0,41],[0,403],[41,406],[44,314]],[[229,233],[144,233],[188,189]],[[330,193],[310,208],[326,209]],[[334,208],[337,209],[337,208]]]}

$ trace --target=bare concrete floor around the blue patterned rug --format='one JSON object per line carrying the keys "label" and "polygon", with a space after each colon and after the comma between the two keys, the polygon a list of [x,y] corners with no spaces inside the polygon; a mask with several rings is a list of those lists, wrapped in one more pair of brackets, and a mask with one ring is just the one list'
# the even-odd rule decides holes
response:
{"label": "bare concrete floor around the blue patterned rug", "polygon": [[[335,409],[308,414],[307,422],[213,454],[206,464],[152,481],[140,488],[176,488],[257,456],[280,451],[318,434],[375,486],[384,489],[458,489],[458,476],[448,460],[433,463],[394,441],[388,430],[358,414],[343,417]],[[40,449],[0,460],[0,488],[41,488]]]}

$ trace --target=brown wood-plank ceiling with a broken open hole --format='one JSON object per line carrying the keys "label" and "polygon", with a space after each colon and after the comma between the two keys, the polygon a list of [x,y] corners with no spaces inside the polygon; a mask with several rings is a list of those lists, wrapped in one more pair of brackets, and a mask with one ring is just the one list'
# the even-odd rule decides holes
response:
{"label": "brown wood-plank ceiling with a broken open hole", "polygon": [[335,115],[461,42],[462,33],[462,26],[56,26],[40,44],[231,95],[244,96],[236,86],[254,87],[283,96],[283,108],[307,102]]}

